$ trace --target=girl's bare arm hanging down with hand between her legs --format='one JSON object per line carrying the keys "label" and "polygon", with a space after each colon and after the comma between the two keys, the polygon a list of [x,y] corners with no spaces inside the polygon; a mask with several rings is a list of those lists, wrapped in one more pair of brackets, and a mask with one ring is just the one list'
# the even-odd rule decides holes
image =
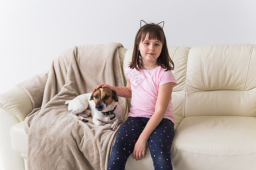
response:
{"label": "girl's bare arm hanging down with hand between her legs", "polygon": [[133,158],[141,160],[144,158],[146,152],[147,141],[152,132],[162,121],[164,114],[166,113],[169,101],[172,95],[172,88],[174,83],[166,83],[159,87],[158,99],[155,104],[155,113],[147,122],[146,127],[139,136],[138,141],[135,143],[133,150]]}

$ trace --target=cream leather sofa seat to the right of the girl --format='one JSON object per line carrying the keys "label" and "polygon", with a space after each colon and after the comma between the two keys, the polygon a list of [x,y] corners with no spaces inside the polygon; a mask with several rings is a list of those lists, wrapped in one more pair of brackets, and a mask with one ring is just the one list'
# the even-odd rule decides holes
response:
{"label": "cream leather sofa seat to the right of the girl", "polygon": [[256,167],[256,118],[186,117],[172,143],[175,169],[253,169]]}

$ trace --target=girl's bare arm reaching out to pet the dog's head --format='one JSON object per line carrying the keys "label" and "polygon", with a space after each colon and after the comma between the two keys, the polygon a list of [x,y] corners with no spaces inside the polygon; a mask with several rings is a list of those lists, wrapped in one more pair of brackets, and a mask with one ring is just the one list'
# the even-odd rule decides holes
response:
{"label": "girl's bare arm reaching out to pet the dog's head", "polygon": [[110,86],[108,84],[100,84],[96,88],[94,88],[93,92],[98,90],[99,88],[109,88],[117,92],[117,95],[120,97],[131,98],[131,84],[130,84],[129,78],[127,78],[126,87],[116,87],[116,86]]}

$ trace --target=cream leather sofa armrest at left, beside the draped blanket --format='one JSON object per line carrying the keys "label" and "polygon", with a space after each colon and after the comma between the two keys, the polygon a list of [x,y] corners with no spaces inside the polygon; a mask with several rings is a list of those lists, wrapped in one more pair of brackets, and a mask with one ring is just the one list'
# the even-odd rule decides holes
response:
{"label": "cream leather sofa armrest at left, beside the draped blanket", "polygon": [[0,162],[4,169],[24,169],[20,153],[12,149],[10,130],[31,111],[32,102],[22,88],[13,87],[0,94]]}

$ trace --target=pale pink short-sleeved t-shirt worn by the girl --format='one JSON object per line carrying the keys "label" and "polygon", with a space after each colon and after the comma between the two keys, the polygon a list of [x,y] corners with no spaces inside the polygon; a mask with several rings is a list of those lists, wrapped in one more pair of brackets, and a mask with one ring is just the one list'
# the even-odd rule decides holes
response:
{"label": "pale pink short-sleeved t-shirt worn by the girl", "polygon": [[[125,73],[131,83],[131,108],[128,116],[150,118],[155,112],[158,88],[170,82],[174,83],[174,86],[177,85],[172,72],[164,70],[161,66],[152,70],[141,69],[139,71],[126,67]],[[164,118],[175,122],[171,101],[172,97]]]}

